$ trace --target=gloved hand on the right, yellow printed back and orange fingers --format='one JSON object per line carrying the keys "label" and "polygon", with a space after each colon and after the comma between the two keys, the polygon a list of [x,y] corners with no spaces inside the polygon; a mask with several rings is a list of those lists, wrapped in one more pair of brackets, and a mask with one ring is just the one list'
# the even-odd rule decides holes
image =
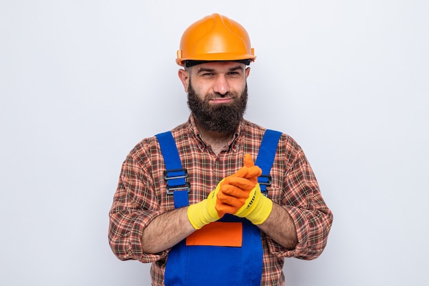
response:
{"label": "gloved hand on the right, yellow printed back and orange fingers", "polygon": [[247,168],[247,172],[243,171],[242,174],[245,175],[225,178],[224,182],[221,182],[221,191],[217,197],[221,202],[238,207],[234,215],[246,217],[253,224],[262,224],[269,217],[273,202],[260,192],[258,176],[262,171],[254,165],[249,154],[245,155],[244,165],[243,168]]}

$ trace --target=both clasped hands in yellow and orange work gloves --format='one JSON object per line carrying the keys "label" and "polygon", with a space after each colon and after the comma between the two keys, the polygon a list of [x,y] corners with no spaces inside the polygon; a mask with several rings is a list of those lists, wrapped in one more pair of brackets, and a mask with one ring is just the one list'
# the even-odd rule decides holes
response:
{"label": "both clasped hands in yellow and orange work gloves", "polygon": [[189,222],[199,229],[230,213],[246,217],[253,224],[262,224],[271,213],[273,202],[260,192],[258,176],[261,174],[252,156],[246,154],[244,167],[221,180],[206,200],[188,207]]}

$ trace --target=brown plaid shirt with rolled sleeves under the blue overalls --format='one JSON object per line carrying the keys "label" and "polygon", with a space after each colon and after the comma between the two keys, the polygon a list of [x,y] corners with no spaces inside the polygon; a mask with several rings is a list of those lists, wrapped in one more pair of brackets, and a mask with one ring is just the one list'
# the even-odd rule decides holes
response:
{"label": "brown plaid shirt with rolled sleeves under the blue overalls", "polygon": [[[265,129],[243,121],[230,143],[218,155],[199,136],[193,117],[171,130],[182,165],[191,183],[189,204],[204,200],[226,176],[243,167],[243,156],[256,159]],[[136,259],[151,266],[152,285],[164,285],[169,250],[143,253],[140,237],[158,215],[174,208],[173,195],[167,195],[163,178],[164,160],[156,137],[143,139],[125,159],[114,202],[110,209],[108,238],[114,254],[121,260]],[[288,250],[262,236],[263,268],[261,285],[284,285],[285,257],[315,259],[326,246],[332,213],[326,206],[319,185],[301,147],[282,134],[271,168],[272,184],[268,197],[291,215],[298,244]],[[210,261],[208,261],[209,263]],[[209,266],[209,264],[208,264]]]}

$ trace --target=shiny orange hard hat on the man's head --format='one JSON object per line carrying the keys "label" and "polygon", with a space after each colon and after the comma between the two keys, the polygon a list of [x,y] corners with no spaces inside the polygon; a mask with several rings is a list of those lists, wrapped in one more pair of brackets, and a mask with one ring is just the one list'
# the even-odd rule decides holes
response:
{"label": "shiny orange hard hat on the man's head", "polygon": [[255,58],[245,28],[236,21],[215,13],[185,30],[175,61],[183,67],[186,61],[233,60],[249,64]]}

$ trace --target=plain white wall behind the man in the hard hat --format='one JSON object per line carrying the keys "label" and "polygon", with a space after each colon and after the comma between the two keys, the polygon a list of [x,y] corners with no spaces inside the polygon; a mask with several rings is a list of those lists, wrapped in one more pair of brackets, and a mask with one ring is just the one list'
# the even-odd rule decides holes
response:
{"label": "plain white wall behind the man in the hard hat", "polygon": [[302,145],[334,213],[287,285],[429,285],[424,0],[1,0],[0,285],[150,285],[108,211],[132,147],[188,118],[175,51],[213,12],[258,56],[245,117]]}

